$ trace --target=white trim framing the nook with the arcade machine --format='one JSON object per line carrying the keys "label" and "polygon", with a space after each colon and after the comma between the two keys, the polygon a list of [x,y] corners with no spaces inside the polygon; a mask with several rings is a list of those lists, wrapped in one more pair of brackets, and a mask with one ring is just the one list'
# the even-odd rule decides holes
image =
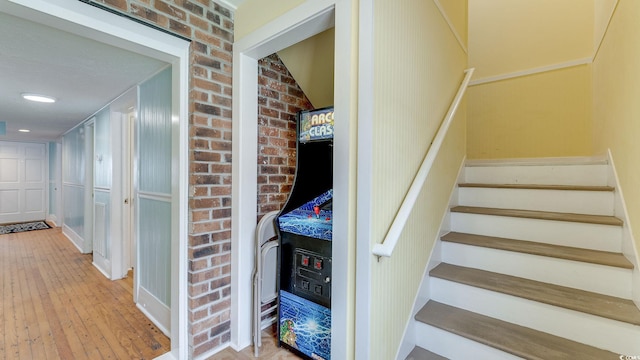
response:
{"label": "white trim framing the nook with the arcade machine", "polygon": [[[307,1],[255,30],[234,44],[233,54],[233,173],[231,217],[231,346],[240,350],[251,344],[251,272],[254,266],[257,225],[257,119],[259,59],[287,48],[335,25],[336,55],[334,107],[336,115],[349,119],[351,112],[352,5],[350,1]],[[353,119],[355,121],[355,119]],[[336,121],[334,139],[334,220],[332,315],[344,319],[332,326],[334,358],[347,358],[349,289],[349,121]],[[351,294],[349,294],[352,292]]]}

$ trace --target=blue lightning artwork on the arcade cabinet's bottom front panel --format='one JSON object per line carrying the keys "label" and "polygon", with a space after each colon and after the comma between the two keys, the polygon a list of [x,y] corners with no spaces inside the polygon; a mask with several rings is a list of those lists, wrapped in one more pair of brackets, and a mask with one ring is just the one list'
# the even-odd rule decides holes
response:
{"label": "blue lightning artwork on the arcade cabinet's bottom front panel", "polygon": [[331,358],[331,309],[280,291],[280,341],[312,359]]}

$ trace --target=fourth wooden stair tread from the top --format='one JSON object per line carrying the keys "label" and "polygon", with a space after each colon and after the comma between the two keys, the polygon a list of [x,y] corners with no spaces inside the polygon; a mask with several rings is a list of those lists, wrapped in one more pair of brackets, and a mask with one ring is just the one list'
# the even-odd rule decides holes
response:
{"label": "fourth wooden stair tread from the top", "polygon": [[521,297],[553,306],[640,325],[640,310],[631,300],[540,281],[441,263],[430,276]]}

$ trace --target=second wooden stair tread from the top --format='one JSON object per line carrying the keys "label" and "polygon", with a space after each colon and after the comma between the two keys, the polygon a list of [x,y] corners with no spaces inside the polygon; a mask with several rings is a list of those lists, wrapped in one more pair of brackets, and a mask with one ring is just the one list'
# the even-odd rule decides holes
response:
{"label": "second wooden stair tread from the top", "polygon": [[467,213],[467,214],[480,214],[480,215],[495,215],[495,216],[509,216],[527,219],[539,219],[539,220],[554,220],[554,221],[569,221],[599,225],[613,225],[622,226],[622,220],[615,216],[605,215],[587,215],[587,214],[573,214],[573,213],[561,213],[551,211],[535,211],[535,210],[519,210],[519,209],[497,209],[486,208],[477,206],[454,206],[451,208],[451,212]]}

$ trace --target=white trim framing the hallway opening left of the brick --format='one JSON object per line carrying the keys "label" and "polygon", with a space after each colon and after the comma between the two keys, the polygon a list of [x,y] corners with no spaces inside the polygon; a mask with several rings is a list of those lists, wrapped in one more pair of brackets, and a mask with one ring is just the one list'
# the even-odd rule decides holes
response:
{"label": "white trim framing the hallway opening left of the brick", "polygon": [[172,64],[173,156],[171,356],[186,359],[188,343],[189,42],[80,1],[5,0],[0,11]]}

